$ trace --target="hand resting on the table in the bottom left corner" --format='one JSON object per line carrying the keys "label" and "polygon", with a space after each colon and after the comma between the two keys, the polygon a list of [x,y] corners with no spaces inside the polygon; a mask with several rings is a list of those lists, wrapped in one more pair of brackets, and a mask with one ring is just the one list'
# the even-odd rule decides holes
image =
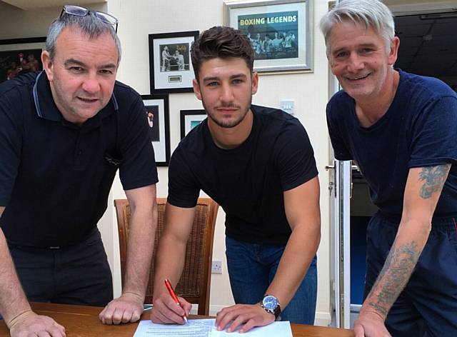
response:
{"label": "hand resting on the table in the bottom left corner", "polygon": [[37,315],[31,310],[13,318],[8,326],[11,337],[66,337],[65,328],[54,319]]}

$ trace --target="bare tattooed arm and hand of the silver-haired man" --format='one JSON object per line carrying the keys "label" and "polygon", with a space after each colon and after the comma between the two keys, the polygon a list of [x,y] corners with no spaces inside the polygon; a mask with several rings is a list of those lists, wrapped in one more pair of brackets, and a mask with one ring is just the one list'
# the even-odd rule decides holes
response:
{"label": "bare tattooed arm and hand of the silver-haired man", "polygon": [[403,214],[386,262],[354,323],[356,337],[390,336],[387,313],[413,273],[431,230],[431,218],[451,164],[410,169]]}

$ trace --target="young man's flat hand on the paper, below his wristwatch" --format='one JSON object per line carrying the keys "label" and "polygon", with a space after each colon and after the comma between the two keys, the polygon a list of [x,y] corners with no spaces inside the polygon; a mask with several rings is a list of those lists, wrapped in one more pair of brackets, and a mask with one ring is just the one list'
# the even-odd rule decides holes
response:
{"label": "young man's flat hand on the paper, below his wristwatch", "polygon": [[[233,322],[230,323],[231,321]],[[219,331],[226,328],[227,332],[233,332],[241,327],[239,332],[243,333],[255,326],[266,326],[273,321],[273,313],[266,312],[260,304],[236,304],[217,313],[216,327]]]}

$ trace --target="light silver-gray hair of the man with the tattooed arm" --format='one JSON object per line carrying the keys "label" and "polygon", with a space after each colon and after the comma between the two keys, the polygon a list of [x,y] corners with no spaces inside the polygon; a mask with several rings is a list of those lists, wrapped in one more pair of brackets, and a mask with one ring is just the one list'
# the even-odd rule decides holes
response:
{"label": "light silver-gray hair of the man with the tattooed arm", "polygon": [[330,56],[331,29],[343,21],[364,24],[366,29],[373,28],[382,36],[386,51],[390,51],[395,36],[395,24],[390,9],[378,0],[343,0],[321,19],[320,27],[326,40],[327,56]]}

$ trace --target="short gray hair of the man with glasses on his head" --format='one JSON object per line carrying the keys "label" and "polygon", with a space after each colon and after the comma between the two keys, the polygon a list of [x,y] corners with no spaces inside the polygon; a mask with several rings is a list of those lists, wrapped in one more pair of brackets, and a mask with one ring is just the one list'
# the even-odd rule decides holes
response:
{"label": "short gray hair of the man with glasses on his head", "polygon": [[89,12],[86,16],[77,16],[71,14],[62,14],[59,18],[52,21],[49,26],[48,36],[46,37],[46,51],[49,52],[51,60],[54,59],[56,54],[56,41],[61,32],[66,26],[79,27],[81,31],[89,36],[89,39],[94,39],[102,34],[108,33],[114,39],[116,44],[118,59],[117,63],[121,61],[121,41],[114,31],[114,27],[111,24],[106,24],[101,19],[94,16],[94,13]]}

